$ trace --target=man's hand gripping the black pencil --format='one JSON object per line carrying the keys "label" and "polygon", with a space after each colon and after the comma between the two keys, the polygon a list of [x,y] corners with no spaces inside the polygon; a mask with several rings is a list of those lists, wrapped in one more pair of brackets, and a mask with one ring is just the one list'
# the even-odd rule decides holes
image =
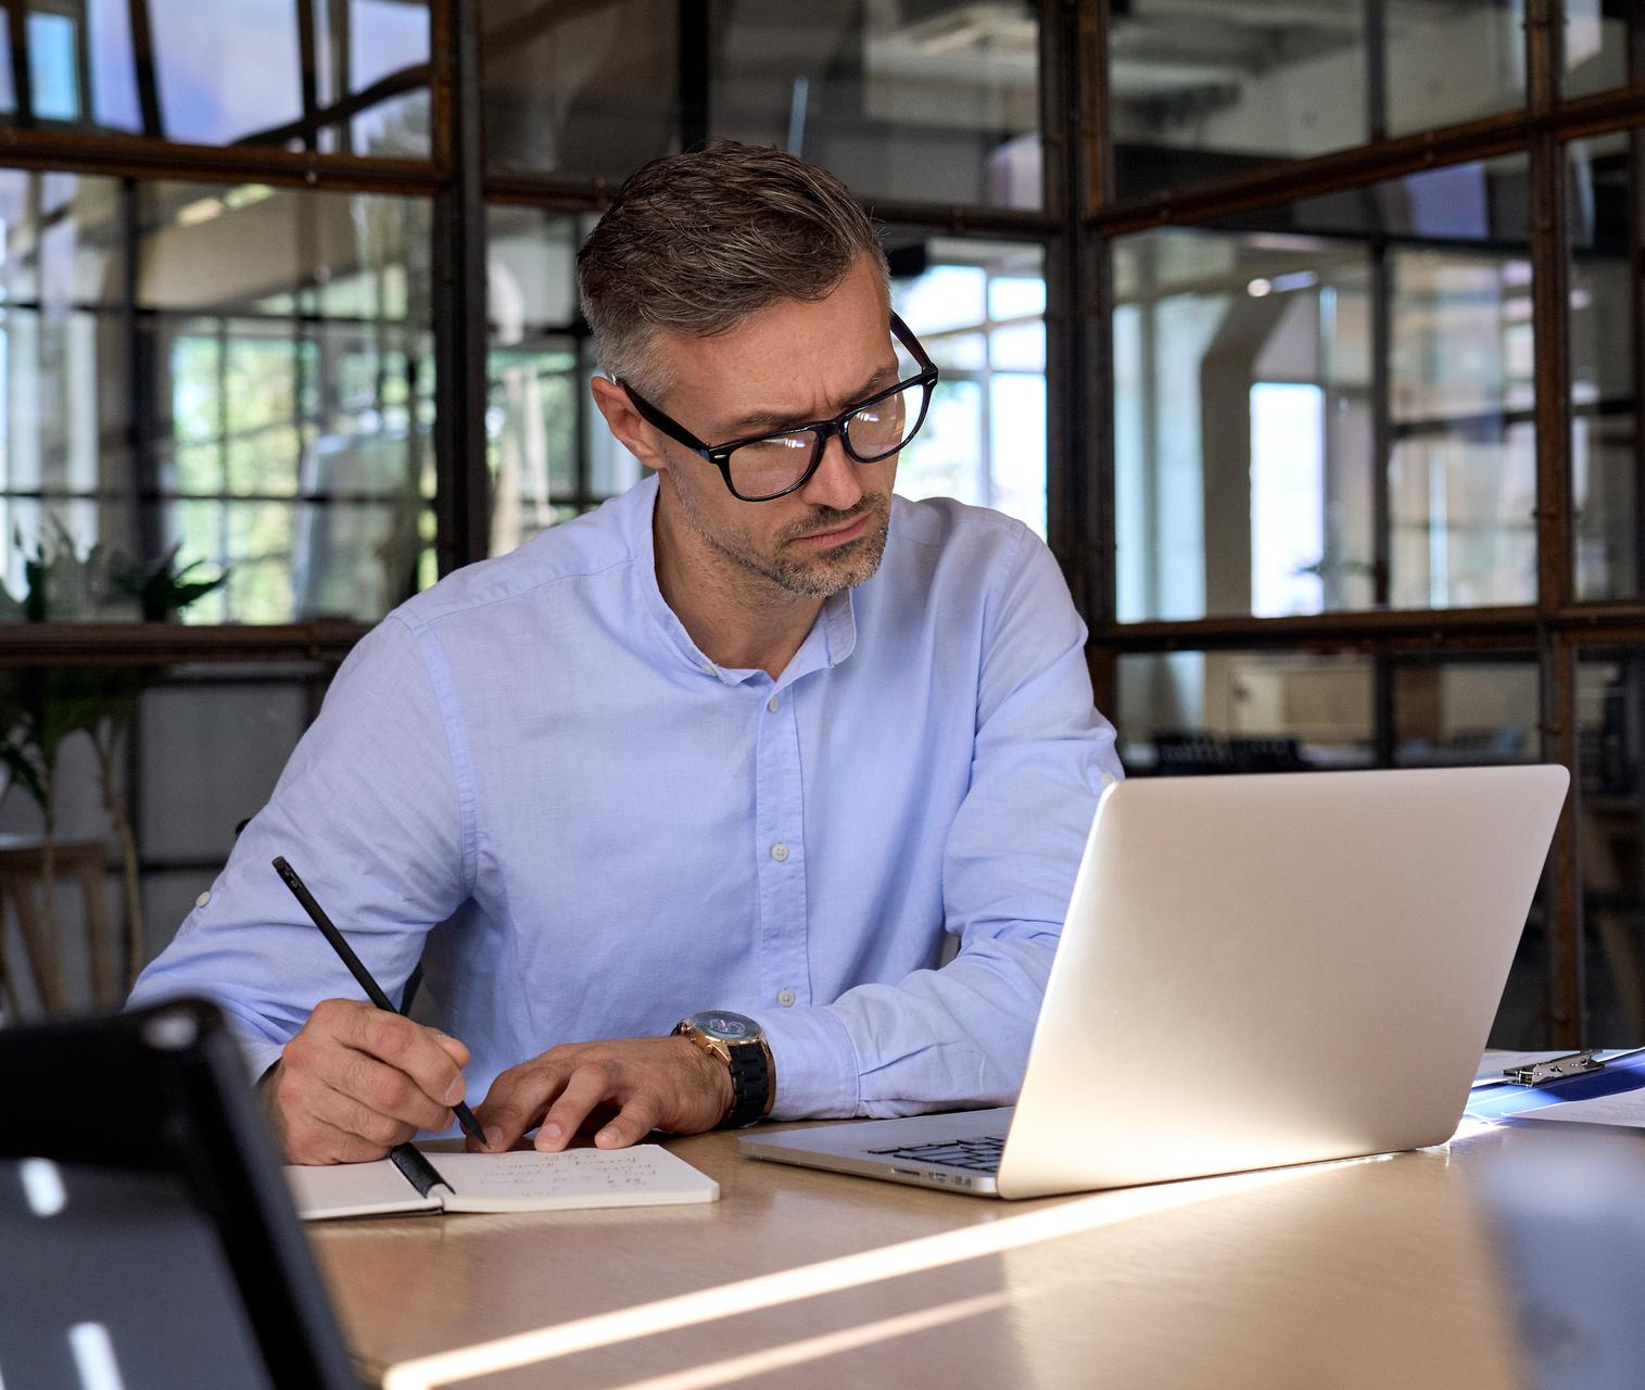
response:
{"label": "man's hand gripping the black pencil", "polygon": [[262,1081],[288,1163],[368,1163],[452,1124],[469,1049],[357,998],[322,1000]]}

